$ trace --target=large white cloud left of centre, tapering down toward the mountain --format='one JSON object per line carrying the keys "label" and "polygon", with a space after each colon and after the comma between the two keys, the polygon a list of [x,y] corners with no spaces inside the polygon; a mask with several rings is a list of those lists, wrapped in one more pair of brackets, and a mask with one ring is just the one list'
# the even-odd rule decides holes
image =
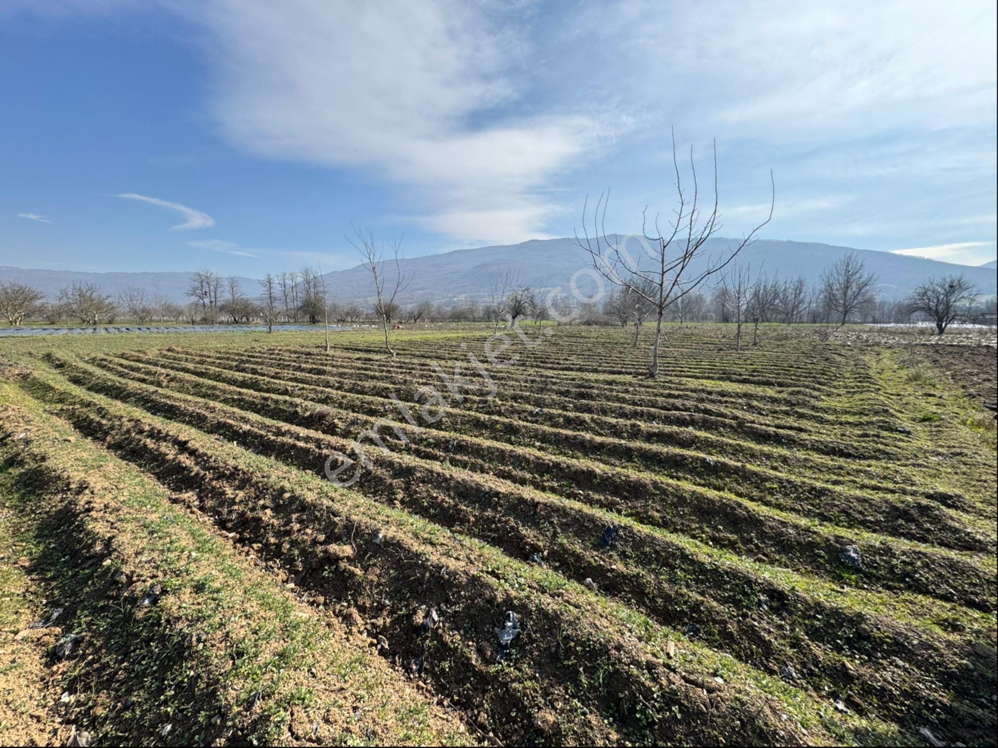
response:
{"label": "large white cloud left of centre, tapering down toward the mountain", "polygon": [[536,236],[560,209],[550,181],[621,127],[573,108],[517,106],[530,83],[515,69],[531,49],[516,10],[452,0],[293,7],[188,9],[214,35],[211,109],[223,134],[264,157],[373,169],[408,187],[433,230]]}

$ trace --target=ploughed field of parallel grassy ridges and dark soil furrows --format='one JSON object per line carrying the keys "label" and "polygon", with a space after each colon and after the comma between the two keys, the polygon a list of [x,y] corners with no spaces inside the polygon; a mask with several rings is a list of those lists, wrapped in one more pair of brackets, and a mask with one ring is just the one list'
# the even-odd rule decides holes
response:
{"label": "ploughed field of parallel grassy ridges and dark soil furrows", "polygon": [[[128,504],[103,474],[130,476],[313,627],[234,693],[226,647],[273,641],[191,646],[207,600],[159,582],[153,639],[186,631],[171,666],[209,658],[218,691],[171,740],[988,742],[993,436],[927,364],[814,335],[736,354],[702,327],[670,333],[649,381],[627,331],[525,326],[498,357],[491,332],[406,332],[394,357],[353,332],[328,352],[305,333],[9,350],[5,476],[27,504],[58,496],[90,533]],[[152,553],[101,532],[73,553]],[[302,664],[323,647],[376,683]],[[125,703],[74,719],[132,739],[166,719]]]}

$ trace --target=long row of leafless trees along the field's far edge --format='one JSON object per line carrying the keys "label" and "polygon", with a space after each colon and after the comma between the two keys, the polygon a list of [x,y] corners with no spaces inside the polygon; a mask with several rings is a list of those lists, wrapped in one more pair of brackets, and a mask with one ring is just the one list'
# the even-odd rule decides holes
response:
{"label": "long row of leafless trees along the field's far edge", "polygon": [[[631,278],[613,286],[599,303],[575,304],[574,323],[632,327],[633,343],[638,345],[644,324],[657,313],[649,300],[654,298],[652,289],[640,292],[643,282],[648,281]],[[367,303],[337,302],[327,297],[323,276],[311,267],[268,273],[257,285],[250,295],[236,277],[199,270],[191,276],[188,302],[178,303],[135,285],[111,295],[93,283],[72,283],[46,299],[30,285],[0,281],[0,316],[10,325],[44,320],[53,325],[95,326],[124,319],[138,324],[262,323],[271,329],[281,323],[318,324],[327,318],[341,324],[375,323],[386,330],[393,323],[444,322],[490,322],[498,329],[512,319],[543,322],[550,316],[545,294],[521,283],[513,272],[500,273],[483,299],[450,303],[401,304],[395,299],[396,289],[383,285]],[[981,299],[963,275],[929,278],[902,299],[883,297],[877,285],[878,279],[866,271],[855,252],[828,265],[813,284],[803,276],[783,278],[761,267],[733,264],[712,285],[677,299],[664,318],[680,325],[733,323],[739,347],[743,330],[748,329],[754,339],[761,324],[931,322],[939,334],[954,322],[994,324],[995,297]],[[563,306],[567,311],[568,305],[565,299],[554,303],[556,311]]]}

